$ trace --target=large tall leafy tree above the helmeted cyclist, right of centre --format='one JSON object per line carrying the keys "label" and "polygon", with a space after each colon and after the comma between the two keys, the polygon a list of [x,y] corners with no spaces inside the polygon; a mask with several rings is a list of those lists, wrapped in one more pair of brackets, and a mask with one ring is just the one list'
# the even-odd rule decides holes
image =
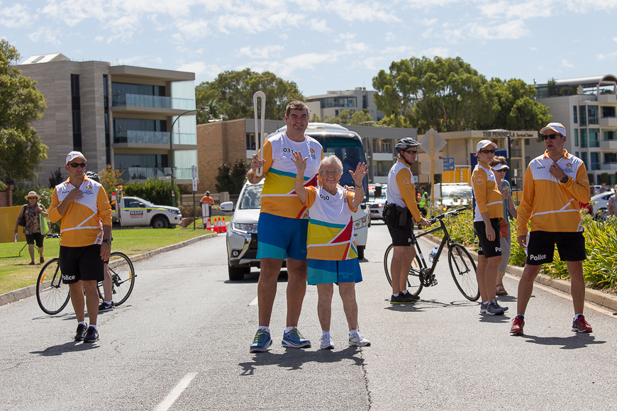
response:
{"label": "large tall leafy tree above the helmeted cyclist, right of centre", "polygon": [[389,73],[373,78],[374,101],[382,124],[418,128],[426,133],[460,131],[490,123],[494,96],[487,79],[460,57],[427,57],[392,62]]}

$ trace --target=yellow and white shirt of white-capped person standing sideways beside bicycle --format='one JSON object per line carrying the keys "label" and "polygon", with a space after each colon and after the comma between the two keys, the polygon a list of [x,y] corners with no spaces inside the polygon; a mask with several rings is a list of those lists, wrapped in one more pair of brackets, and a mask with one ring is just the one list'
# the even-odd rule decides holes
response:
{"label": "yellow and white shirt of white-capped person standing sideways beside bicycle", "polygon": [[504,203],[493,169],[488,164],[478,162],[472,174],[472,188],[476,198],[474,222],[483,221],[482,214],[489,212],[489,218],[504,218]]}

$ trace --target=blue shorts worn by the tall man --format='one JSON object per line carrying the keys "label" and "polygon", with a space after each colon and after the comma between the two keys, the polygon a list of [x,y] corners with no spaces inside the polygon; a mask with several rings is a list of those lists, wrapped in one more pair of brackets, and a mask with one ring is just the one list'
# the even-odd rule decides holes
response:
{"label": "blue shorts worn by the tall man", "polygon": [[257,223],[257,258],[306,260],[309,220],[260,213]]}

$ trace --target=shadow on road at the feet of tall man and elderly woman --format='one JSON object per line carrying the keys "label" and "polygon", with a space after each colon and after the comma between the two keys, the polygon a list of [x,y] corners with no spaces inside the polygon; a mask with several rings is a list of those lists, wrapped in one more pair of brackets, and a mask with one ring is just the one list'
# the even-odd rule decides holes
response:
{"label": "shadow on road at the feet of tall man and elderly woman", "polygon": [[343,360],[353,360],[355,366],[362,366],[365,360],[356,354],[362,350],[359,347],[348,347],[340,351],[329,351],[319,349],[317,351],[304,351],[296,348],[285,349],[284,354],[274,354],[271,351],[255,354],[253,361],[238,364],[243,368],[241,376],[252,376],[253,371],[261,366],[279,366],[287,368],[289,371],[300,370],[302,366],[309,362],[316,363],[336,363]]}

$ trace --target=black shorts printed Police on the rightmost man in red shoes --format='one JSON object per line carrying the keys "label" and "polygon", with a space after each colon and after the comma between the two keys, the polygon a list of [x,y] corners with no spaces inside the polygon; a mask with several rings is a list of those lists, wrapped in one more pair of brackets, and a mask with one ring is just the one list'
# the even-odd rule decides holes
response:
{"label": "black shorts printed Police on the rightmost man in red shoes", "polygon": [[562,261],[583,261],[585,236],[582,232],[532,231],[527,243],[527,261],[530,266],[550,263],[555,254],[555,244]]}

